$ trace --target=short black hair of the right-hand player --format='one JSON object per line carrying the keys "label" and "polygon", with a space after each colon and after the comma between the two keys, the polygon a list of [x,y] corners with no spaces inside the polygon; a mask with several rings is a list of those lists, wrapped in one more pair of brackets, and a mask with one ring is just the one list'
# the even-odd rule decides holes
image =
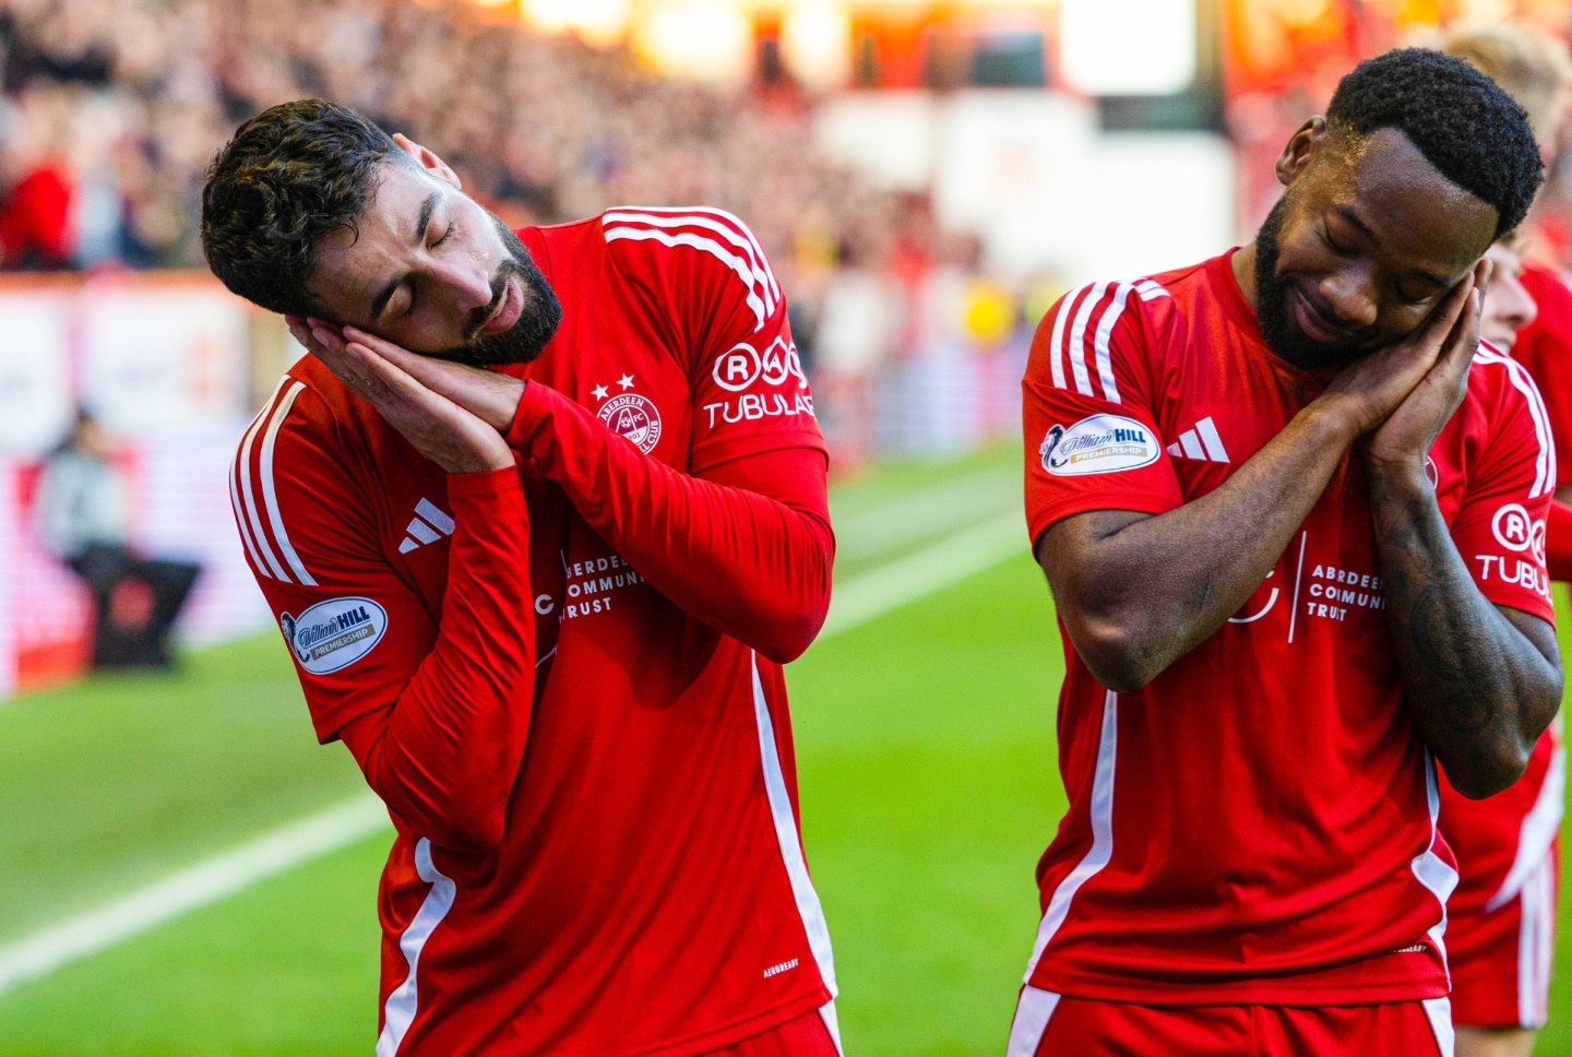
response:
{"label": "short black hair of the right-hand player", "polygon": [[1460,58],[1402,47],[1366,58],[1331,96],[1331,129],[1360,137],[1396,129],[1435,170],[1495,206],[1495,238],[1509,233],[1545,178],[1528,113]]}

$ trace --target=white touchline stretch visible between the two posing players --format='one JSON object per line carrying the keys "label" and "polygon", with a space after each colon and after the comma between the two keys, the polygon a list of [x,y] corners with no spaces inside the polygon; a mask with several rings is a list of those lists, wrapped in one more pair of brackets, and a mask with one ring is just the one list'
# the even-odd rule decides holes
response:
{"label": "white touchline stretch visible between the two posing players", "polygon": [[830,617],[814,642],[1025,554],[1025,527],[1019,511],[998,514],[843,584],[830,596]]}

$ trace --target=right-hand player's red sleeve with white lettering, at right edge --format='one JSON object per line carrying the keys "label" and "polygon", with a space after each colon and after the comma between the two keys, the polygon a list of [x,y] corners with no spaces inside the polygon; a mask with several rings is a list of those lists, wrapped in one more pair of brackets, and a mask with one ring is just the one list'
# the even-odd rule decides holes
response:
{"label": "right-hand player's red sleeve with white lettering, at right edge", "polygon": [[[1545,568],[1545,522],[1556,483],[1556,453],[1539,390],[1522,365],[1481,351],[1504,374],[1504,393],[1479,464],[1468,473],[1453,519],[1453,543],[1479,591],[1555,623]],[[1478,366],[1475,368],[1479,370]]]}

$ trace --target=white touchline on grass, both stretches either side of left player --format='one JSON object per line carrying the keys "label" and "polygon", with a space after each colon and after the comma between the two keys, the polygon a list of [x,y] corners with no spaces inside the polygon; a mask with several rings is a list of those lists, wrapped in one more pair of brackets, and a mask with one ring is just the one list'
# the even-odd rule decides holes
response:
{"label": "white touchline on grass, both stretches either side of left player", "polygon": [[[830,617],[816,642],[959,584],[1012,552],[1025,552],[1023,541],[1022,514],[1011,511],[863,573],[835,590]],[[366,793],[203,859],[113,903],[0,947],[0,994],[382,829],[390,829],[387,808]]]}

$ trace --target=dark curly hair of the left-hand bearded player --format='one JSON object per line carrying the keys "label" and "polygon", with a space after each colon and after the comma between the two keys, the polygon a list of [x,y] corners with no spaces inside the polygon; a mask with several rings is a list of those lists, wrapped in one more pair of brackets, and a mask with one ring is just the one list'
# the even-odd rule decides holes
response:
{"label": "dark curly hair of the left-hand bearded player", "polygon": [[307,280],[322,236],[357,219],[380,162],[409,156],[387,132],[324,99],[250,118],[208,165],[201,249],[214,275],[263,308],[311,315]]}

